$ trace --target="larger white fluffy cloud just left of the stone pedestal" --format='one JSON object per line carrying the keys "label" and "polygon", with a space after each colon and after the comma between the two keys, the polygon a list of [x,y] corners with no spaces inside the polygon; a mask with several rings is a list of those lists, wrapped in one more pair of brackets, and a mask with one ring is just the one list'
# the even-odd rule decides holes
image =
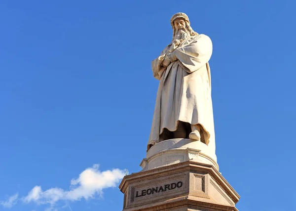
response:
{"label": "larger white fluffy cloud just left of the stone pedestal", "polygon": [[99,165],[82,171],[77,179],[71,180],[69,190],[50,188],[43,191],[41,186],[35,186],[22,200],[25,203],[54,205],[58,201],[76,201],[82,198],[93,198],[96,194],[102,194],[103,189],[115,187],[124,176],[124,171],[112,169],[100,171]]}

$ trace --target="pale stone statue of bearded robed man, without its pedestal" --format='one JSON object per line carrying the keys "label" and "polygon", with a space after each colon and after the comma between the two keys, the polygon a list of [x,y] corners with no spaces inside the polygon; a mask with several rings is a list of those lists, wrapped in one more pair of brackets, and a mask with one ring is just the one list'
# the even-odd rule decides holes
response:
{"label": "pale stone statue of bearded robed man, without its pedestal", "polygon": [[215,151],[211,98],[211,39],[190,27],[188,16],[171,18],[173,41],[152,61],[160,80],[148,149],[173,138],[201,141]]}

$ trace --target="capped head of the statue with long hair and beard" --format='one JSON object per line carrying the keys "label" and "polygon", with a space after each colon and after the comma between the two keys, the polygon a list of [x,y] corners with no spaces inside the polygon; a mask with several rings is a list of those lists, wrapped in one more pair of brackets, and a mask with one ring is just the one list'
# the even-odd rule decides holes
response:
{"label": "capped head of the statue with long hair and beard", "polygon": [[193,29],[190,27],[189,18],[183,12],[178,12],[173,15],[173,17],[171,18],[171,25],[173,28],[173,40],[180,30],[185,31],[189,36],[198,35],[198,33],[194,32]]}

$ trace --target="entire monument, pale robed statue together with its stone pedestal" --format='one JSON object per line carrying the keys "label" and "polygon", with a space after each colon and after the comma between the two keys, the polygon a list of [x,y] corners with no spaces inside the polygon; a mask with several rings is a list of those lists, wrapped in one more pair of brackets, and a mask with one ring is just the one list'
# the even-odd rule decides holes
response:
{"label": "entire monument, pale robed statue together with its stone pedestal", "polygon": [[[142,170],[125,176],[123,211],[238,211],[239,195],[219,171],[211,98],[212,42],[184,13],[152,61],[159,87]],[[182,205],[182,208],[181,206]]]}

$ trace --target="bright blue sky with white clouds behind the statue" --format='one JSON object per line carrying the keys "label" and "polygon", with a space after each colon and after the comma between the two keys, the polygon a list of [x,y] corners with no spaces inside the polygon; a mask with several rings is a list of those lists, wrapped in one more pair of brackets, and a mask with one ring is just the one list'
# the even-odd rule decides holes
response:
{"label": "bright blue sky with white clouds behind the statue", "polygon": [[214,45],[218,164],[237,208],[296,211],[295,7],[2,0],[0,210],[122,210],[124,169],[141,170],[146,156],[158,87],[150,62],[171,42],[171,16],[185,12]]}

